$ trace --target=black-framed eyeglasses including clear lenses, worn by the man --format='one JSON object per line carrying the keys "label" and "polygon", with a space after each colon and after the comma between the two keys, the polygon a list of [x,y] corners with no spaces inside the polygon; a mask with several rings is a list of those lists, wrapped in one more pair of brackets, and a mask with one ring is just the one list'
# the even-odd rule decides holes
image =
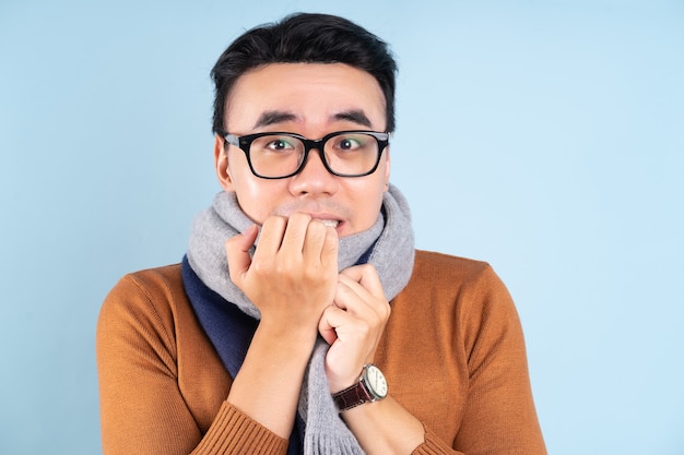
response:
{"label": "black-framed eyeglasses including clear lenses, worn by the man", "polygon": [[263,179],[284,179],[299,173],[312,148],[318,151],[323,166],[333,176],[368,176],[378,168],[390,136],[375,131],[338,131],[318,141],[278,132],[236,136],[222,131],[221,135],[226,144],[245,152],[251,172]]}

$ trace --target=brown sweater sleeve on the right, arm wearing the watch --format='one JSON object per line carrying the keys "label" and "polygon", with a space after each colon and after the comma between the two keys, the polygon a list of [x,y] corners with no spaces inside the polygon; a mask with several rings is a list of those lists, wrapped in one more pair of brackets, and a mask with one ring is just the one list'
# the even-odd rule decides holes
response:
{"label": "brown sweater sleeve on the right, arm wearing the watch", "polygon": [[413,454],[545,455],[522,327],[508,290],[486,265],[458,299],[453,355],[468,371],[460,428],[448,441],[424,423],[425,442]]}

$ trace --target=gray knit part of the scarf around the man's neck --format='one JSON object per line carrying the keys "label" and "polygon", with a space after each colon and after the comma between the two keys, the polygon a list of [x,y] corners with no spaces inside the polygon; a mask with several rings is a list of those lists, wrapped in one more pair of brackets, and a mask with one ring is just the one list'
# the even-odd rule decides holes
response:
{"label": "gray knit part of the scarf around the man's neck", "polygon": [[[204,285],[258,320],[259,310],[231,282],[224,248],[227,238],[245,231],[252,224],[240,209],[235,193],[221,192],[213,205],[194,219],[187,255],[190,266]],[[385,296],[391,300],[409,283],[414,260],[409,205],[391,184],[382,197],[382,211],[375,225],[366,231],[340,239],[339,270],[356,264],[370,248],[368,263],[376,267]],[[253,251],[252,247],[250,254],[253,255]],[[328,344],[319,337],[302,384],[298,412],[306,422],[304,453],[363,454],[356,439],[340,419],[330,395],[325,370],[328,348]]]}

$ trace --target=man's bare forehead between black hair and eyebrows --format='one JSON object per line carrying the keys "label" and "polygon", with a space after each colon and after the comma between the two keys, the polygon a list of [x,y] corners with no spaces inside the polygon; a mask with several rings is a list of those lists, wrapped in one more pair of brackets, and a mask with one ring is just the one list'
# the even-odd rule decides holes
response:
{"label": "man's bare forehead between black hair and eyebrows", "polygon": [[385,128],[385,96],[368,72],[343,63],[272,63],[236,81],[226,99],[226,124],[247,132],[264,112],[286,112],[295,123],[330,123],[349,111],[363,112],[373,129]]}

